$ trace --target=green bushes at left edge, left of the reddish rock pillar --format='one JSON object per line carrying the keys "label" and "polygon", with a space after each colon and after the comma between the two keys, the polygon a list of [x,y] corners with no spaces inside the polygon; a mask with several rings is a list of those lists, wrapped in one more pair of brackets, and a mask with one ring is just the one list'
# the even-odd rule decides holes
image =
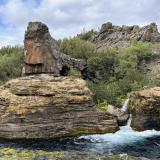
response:
{"label": "green bushes at left edge, left of the reddish rock pillar", "polygon": [[0,81],[21,76],[23,63],[22,47],[2,47],[0,49]]}

